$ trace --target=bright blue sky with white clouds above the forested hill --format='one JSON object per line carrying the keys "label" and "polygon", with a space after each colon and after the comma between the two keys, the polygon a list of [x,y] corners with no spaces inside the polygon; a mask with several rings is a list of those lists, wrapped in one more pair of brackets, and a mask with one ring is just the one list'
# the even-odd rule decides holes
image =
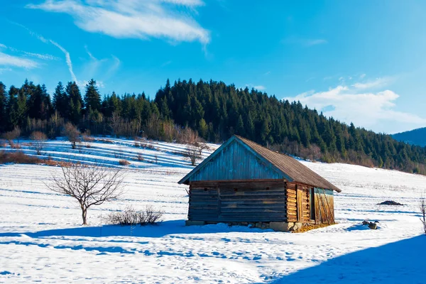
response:
{"label": "bright blue sky with white clouds above the forested hill", "polygon": [[52,92],[93,77],[102,94],[154,97],[167,78],[222,80],[395,133],[426,126],[425,13],[391,0],[2,1],[0,81]]}

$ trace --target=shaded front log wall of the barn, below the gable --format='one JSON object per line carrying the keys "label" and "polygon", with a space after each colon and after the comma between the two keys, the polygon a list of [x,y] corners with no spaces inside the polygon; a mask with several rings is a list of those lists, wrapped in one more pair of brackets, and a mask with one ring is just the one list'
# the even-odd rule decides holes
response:
{"label": "shaded front log wall of the barn, below the gable", "polygon": [[285,182],[195,182],[188,219],[206,222],[287,222]]}

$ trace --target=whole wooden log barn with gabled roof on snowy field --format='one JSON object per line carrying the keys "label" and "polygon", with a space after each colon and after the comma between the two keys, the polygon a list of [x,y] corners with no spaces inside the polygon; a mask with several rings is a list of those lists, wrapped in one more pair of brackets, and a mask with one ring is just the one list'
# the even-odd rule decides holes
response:
{"label": "whole wooden log barn with gabled roof on snowy field", "polygon": [[253,224],[276,231],[334,223],[339,188],[288,155],[232,136],[179,184],[190,186],[187,225]]}

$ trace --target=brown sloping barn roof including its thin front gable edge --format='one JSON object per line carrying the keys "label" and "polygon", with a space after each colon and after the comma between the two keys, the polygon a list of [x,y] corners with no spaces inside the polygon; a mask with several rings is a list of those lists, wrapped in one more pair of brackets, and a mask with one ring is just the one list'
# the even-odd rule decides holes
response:
{"label": "brown sloping barn roof including its thin front gable edge", "polygon": [[258,143],[236,135],[229,138],[229,140],[226,141],[216,151],[214,151],[212,155],[209,155],[209,157],[203,160],[200,165],[198,165],[190,173],[185,175],[185,177],[182,178],[179,183],[182,184],[189,180],[194,173],[197,173],[197,171],[202,169],[204,165],[209,162],[209,160],[214,158],[214,156],[217,155],[217,153],[219,153],[220,151],[222,151],[223,148],[225,148],[227,145],[229,145],[231,141],[237,141],[239,143],[244,144],[245,146],[248,146],[253,154],[258,155],[259,158],[263,158],[263,160],[266,160],[268,163],[273,165],[275,169],[283,173],[283,175],[289,182],[300,182],[305,185],[312,185],[314,187],[321,187],[324,189],[336,190],[337,192],[341,192],[338,187],[332,185],[331,182],[322,178],[322,176],[318,175],[310,168],[307,168],[307,166],[303,165],[295,158],[290,157],[289,155],[284,155],[271,151],[268,148],[259,145]]}

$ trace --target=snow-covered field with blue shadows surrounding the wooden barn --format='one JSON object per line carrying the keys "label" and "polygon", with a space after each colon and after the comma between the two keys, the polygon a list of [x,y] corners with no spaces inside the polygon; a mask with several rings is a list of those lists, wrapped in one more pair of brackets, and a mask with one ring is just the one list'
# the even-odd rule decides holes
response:
{"label": "snow-covered field with blue shadows surrounding the wooden barn", "polygon": [[[43,150],[54,160],[131,163],[125,195],[89,209],[90,226],[80,226],[75,200],[46,189],[43,182],[60,168],[0,165],[0,283],[426,283],[421,175],[302,162],[342,189],[334,198],[339,224],[303,234],[185,227],[186,186],[177,184],[192,169],[181,155],[185,146],[108,140],[114,143],[76,150],[50,141]],[[385,200],[405,205],[377,205]],[[163,210],[164,222],[102,226],[102,215],[129,204]],[[379,229],[360,226],[364,219],[378,220]]]}

